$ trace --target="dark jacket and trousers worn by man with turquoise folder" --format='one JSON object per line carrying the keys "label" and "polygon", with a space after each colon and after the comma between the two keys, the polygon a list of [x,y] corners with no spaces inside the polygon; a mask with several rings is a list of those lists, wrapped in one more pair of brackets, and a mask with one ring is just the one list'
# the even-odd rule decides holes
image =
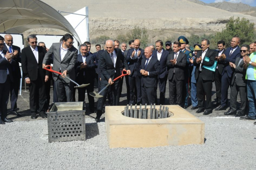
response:
{"label": "dark jacket and trousers worn by man with turquoise folder", "polygon": [[[197,52],[196,58],[202,56],[202,50]],[[208,48],[202,63],[197,63],[196,58],[194,59],[194,66],[196,66],[196,87],[197,87],[197,100],[199,109],[205,108],[206,111],[212,111],[211,108],[211,91],[212,91],[212,81],[214,80],[214,72],[211,70],[203,68],[203,66],[212,66],[214,65],[216,51]],[[209,61],[205,61],[206,57],[209,58]],[[202,71],[199,71],[200,65],[202,65]],[[204,107],[204,95],[206,95],[206,107]]]}

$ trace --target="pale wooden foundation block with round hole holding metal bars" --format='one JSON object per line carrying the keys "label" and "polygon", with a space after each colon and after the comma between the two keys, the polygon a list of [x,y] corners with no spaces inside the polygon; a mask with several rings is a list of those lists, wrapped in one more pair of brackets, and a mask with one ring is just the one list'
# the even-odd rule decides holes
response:
{"label": "pale wooden foundation block with round hole holding metal bars", "polygon": [[109,148],[204,144],[204,123],[178,105],[166,105],[169,117],[164,119],[127,117],[124,107],[105,108]]}

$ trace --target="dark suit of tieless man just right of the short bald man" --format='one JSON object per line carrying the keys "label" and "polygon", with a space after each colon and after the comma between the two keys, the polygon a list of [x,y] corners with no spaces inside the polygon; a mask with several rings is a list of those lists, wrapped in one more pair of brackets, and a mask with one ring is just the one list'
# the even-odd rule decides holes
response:
{"label": "dark suit of tieless man just right of the short bald man", "polygon": [[[153,57],[157,58],[157,50],[154,50],[152,55]],[[160,104],[162,105],[165,104],[165,90],[166,90],[166,81],[167,81],[167,75],[168,75],[166,60],[168,55],[169,55],[169,51],[166,51],[163,49],[161,58],[159,60],[160,74],[157,77],[157,81],[158,81],[159,92],[160,92]],[[157,93],[157,91],[155,91],[155,93]],[[156,104],[158,104],[157,98],[156,98]]]}

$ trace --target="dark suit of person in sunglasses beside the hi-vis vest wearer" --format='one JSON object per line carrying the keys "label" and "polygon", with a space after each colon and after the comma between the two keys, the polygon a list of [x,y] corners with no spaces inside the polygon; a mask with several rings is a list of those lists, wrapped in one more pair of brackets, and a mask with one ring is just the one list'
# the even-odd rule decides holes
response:
{"label": "dark suit of person in sunglasses beside the hi-vis vest wearer", "polygon": [[238,114],[245,115],[246,101],[247,101],[247,89],[246,89],[246,69],[244,69],[244,60],[241,57],[236,58],[236,69],[231,76],[231,86],[230,86],[230,111],[237,111],[237,94],[239,92],[241,99],[241,106],[238,109]]}

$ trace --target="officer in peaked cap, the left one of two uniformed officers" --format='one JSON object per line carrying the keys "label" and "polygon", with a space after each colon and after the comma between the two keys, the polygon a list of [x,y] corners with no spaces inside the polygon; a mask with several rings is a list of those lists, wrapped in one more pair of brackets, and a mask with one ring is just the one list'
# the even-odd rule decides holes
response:
{"label": "officer in peaked cap, the left one of two uniformed officers", "polygon": [[184,107],[184,109],[188,108],[188,97],[189,97],[189,93],[188,93],[188,82],[189,82],[189,58],[192,57],[191,51],[188,51],[186,49],[186,45],[189,44],[188,39],[185,36],[180,36],[178,38],[178,41],[181,43],[181,52],[185,53],[187,55],[187,65],[185,67],[185,72],[184,72],[184,84],[183,84],[183,93],[182,93],[182,107]]}

